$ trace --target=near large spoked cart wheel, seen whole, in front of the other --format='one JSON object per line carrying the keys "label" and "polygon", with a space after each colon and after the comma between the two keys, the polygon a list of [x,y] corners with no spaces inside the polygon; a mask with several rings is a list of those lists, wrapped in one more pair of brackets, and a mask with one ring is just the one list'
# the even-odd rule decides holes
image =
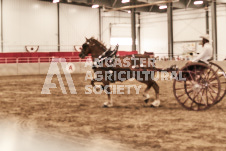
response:
{"label": "near large spoked cart wheel, seen whole, in front of the other", "polygon": [[173,90],[177,101],[188,110],[205,110],[218,100],[221,84],[216,72],[201,63],[191,63],[183,67],[174,80]]}

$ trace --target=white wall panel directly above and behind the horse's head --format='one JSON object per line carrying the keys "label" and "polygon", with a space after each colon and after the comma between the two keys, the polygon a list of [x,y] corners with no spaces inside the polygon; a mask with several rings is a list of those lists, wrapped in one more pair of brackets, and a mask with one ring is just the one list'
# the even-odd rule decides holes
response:
{"label": "white wall panel directly above and behind the horse's head", "polygon": [[61,51],[73,51],[87,38],[99,38],[99,10],[91,7],[60,4]]}

